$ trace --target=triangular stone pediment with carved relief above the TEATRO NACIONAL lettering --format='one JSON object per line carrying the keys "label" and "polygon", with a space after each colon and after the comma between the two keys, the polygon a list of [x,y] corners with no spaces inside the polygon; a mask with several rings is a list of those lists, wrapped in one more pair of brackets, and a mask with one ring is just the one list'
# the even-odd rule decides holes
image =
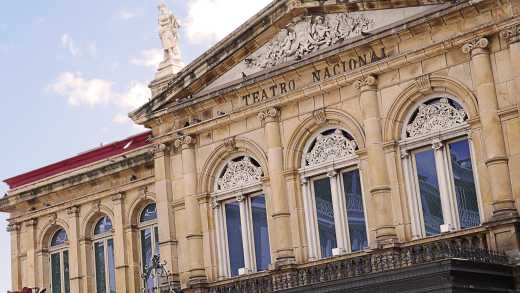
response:
{"label": "triangular stone pediment with carved relief above the TEATRO NACIONAL lettering", "polygon": [[130,116],[146,124],[227,84],[319,55],[441,5],[455,4],[449,0],[273,1],[179,73],[152,81],[153,98]]}

